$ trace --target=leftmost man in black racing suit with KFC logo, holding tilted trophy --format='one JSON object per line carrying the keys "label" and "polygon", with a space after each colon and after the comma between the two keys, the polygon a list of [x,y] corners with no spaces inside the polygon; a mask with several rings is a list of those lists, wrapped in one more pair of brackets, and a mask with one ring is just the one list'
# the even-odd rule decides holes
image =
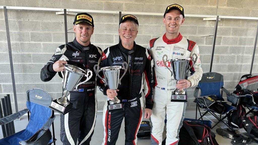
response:
{"label": "leftmost man in black racing suit with KFC logo, holding tilted trophy", "polygon": [[93,30],[92,16],[87,13],[77,14],[74,21],[76,38],[73,42],[59,46],[41,70],[41,80],[44,82],[51,80],[57,72],[64,71],[64,64],[67,64],[64,60],[83,63],[86,72],[93,72],[90,80],[69,94],[68,99],[73,103],[72,110],[60,116],[60,137],[64,145],[77,144],[77,139],[78,144],[90,144],[93,134],[97,112],[96,74],[93,67],[100,64],[102,56],[101,49],[90,43]]}

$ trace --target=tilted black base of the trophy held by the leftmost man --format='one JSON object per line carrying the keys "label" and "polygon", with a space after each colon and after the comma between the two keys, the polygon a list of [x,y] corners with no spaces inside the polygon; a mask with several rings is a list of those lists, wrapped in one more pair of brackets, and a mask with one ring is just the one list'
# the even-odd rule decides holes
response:
{"label": "tilted black base of the trophy held by the leftmost man", "polygon": [[57,102],[57,99],[53,100],[51,102],[51,105],[49,106],[50,109],[62,114],[62,115],[65,115],[67,114],[68,112],[71,111],[72,109],[72,103],[69,102],[69,105],[66,106],[66,107],[63,107],[62,105],[60,105],[58,102]]}

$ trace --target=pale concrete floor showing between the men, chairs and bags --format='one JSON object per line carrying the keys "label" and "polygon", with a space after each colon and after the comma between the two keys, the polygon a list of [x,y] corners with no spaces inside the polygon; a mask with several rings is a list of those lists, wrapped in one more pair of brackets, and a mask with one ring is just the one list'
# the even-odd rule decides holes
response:
{"label": "pale concrete floor showing between the men, chairs and bags", "polygon": [[[195,110],[187,110],[186,111],[186,118],[195,118]],[[27,116],[22,116],[20,121],[15,121],[14,126],[15,126],[15,132],[21,131],[24,128],[26,128],[28,124],[28,117]],[[55,129],[55,138],[57,139],[56,145],[62,145],[62,142],[60,141],[60,115],[56,114],[56,118],[54,120],[54,129]],[[213,128],[213,131],[216,131],[216,127]],[[94,128],[94,134],[92,136],[91,144],[92,145],[100,145],[102,143],[103,137],[104,137],[104,128],[102,125],[102,112],[97,113],[97,119],[96,119],[96,125]],[[165,138],[166,132],[164,131],[163,133],[163,138]],[[2,129],[0,127],[0,138],[3,138],[2,134]],[[122,145],[124,144],[125,140],[125,133],[124,133],[124,123],[122,123],[118,140],[117,140],[117,145]],[[220,145],[230,145],[230,139],[225,139],[220,135],[216,135],[216,141]],[[150,144],[150,139],[138,139],[137,141],[138,145],[149,145]]]}

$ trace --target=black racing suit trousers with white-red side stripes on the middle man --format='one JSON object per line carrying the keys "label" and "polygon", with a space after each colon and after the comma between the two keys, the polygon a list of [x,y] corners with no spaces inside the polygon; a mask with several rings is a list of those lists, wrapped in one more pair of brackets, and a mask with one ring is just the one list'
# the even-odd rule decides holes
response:
{"label": "black racing suit trousers with white-red side stripes on the middle man", "polygon": [[[141,94],[140,94],[141,95]],[[133,100],[133,99],[132,99]],[[121,102],[123,100],[120,100]],[[135,145],[136,135],[142,122],[143,99],[122,102],[124,110],[107,110],[107,102],[103,109],[104,139],[102,145],[115,145],[118,139],[121,123],[125,120],[125,145]],[[132,120],[138,120],[137,122]]]}

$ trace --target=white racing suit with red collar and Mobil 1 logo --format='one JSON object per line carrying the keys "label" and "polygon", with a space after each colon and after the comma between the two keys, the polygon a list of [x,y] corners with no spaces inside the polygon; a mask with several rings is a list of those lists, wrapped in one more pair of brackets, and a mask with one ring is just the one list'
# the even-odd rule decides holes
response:
{"label": "white racing suit with red collar and Mobil 1 logo", "polygon": [[[153,126],[151,145],[161,145],[162,143],[165,115],[167,115],[166,145],[175,145],[178,144],[178,134],[184,119],[186,102],[171,102],[171,95],[176,89],[176,81],[164,65],[162,58],[164,54],[168,56],[168,59],[191,58],[192,54],[195,53],[198,59],[193,68],[190,69],[191,76],[188,77],[188,80],[191,82],[191,86],[196,86],[203,74],[199,58],[199,48],[195,42],[184,38],[180,33],[178,38],[171,40],[168,40],[165,34],[163,37],[151,39],[147,48],[154,60],[153,102],[155,103],[151,115]],[[192,63],[190,61],[189,66]],[[167,62],[166,65],[172,69],[170,62]]]}

